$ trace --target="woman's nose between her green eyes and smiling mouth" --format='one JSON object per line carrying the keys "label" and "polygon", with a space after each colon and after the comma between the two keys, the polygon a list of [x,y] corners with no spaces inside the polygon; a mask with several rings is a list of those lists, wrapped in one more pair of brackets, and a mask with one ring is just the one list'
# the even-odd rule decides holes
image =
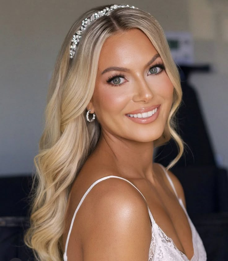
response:
{"label": "woman's nose between her green eyes and smiling mouth", "polygon": [[153,92],[151,89],[152,86],[148,85],[147,81],[144,77],[140,77],[135,82],[134,94],[133,94],[133,101],[134,102],[150,102],[153,98]]}

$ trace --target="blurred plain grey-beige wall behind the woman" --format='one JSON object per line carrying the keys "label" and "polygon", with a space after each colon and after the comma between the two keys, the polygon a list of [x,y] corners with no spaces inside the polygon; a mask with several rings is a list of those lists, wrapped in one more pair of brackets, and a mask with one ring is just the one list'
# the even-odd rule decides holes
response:
{"label": "blurred plain grey-beige wall behind the woman", "polygon": [[[0,8],[0,175],[33,171],[43,129],[50,74],[72,23],[92,6],[109,1],[2,0]],[[120,3],[120,2],[118,2]],[[154,15],[165,31],[189,31],[195,62],[213,66],[191,83],[220,164],[228,168],[227,0],[128,1]]]}

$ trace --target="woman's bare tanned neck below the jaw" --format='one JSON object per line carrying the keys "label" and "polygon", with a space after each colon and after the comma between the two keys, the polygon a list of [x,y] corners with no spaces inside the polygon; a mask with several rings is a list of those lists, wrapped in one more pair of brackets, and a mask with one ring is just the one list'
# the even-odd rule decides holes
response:
{"label": "woman's bare tanned neck below the jaw", "polygon": [[153,151],[153,141],[138,142],[101,133],[95,153],[99,162],[111,164],[121,175],[154,183]]}

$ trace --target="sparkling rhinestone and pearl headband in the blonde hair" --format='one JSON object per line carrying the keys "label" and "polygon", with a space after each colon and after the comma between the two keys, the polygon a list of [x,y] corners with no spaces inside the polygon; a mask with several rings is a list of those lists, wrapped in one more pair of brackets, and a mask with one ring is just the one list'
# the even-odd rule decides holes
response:
{"label": "sparkling rhinestone and pearl headband in the blonde hair", "polygon": [[90,16],[90,18],[85,18],[85,20],[82,21],[81,23],[81,30],[78,30],[72,37],[71,39],[71,46],[70,46],[70,58],[72,59],[74,57],[75,51],[77,49],[78,43],[81,39],[81,36],[85,29],[90,25],[93,21],[97,20],[99,17],[104,16],[104,15],[110,15],[110,13],[117,9],[117,8],[124,8],[124,7],[129,7],[129,8],[135,8],[138,9],[138,7],[134,6],[129,6],[129,5],[113,5],[110,8],[105,7],[103,10],[98,11],[97,13],[94,13]]}

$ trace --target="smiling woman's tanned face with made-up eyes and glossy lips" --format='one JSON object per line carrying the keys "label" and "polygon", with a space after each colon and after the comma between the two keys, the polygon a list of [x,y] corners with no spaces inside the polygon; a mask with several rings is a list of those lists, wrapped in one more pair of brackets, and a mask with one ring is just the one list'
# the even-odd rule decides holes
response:
{"label": "smiling woman's tanned face with made-up eyes and glossy lips", "polygon": [[95,112],[104,133],[140,142],[158,139],[172,98],[173,85],[162,59],[141,30],[116,33],[105,41],[87,106],[90,113]]}

